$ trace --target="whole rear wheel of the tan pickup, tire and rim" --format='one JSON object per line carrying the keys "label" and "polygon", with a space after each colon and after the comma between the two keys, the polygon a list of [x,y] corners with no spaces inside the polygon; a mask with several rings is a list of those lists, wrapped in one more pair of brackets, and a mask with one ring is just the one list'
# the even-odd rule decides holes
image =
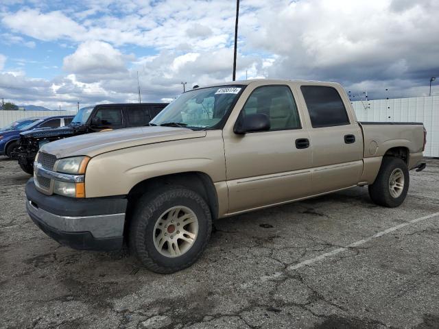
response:
{"label": "whole rear wheel of the tan pickup, tire and rim", "polygon": [[379,206],[400,206],[407,196],[409,184],[410,175],[405,162],[400,158],[385,156],[377,179],[368,186],[370,199]]}

